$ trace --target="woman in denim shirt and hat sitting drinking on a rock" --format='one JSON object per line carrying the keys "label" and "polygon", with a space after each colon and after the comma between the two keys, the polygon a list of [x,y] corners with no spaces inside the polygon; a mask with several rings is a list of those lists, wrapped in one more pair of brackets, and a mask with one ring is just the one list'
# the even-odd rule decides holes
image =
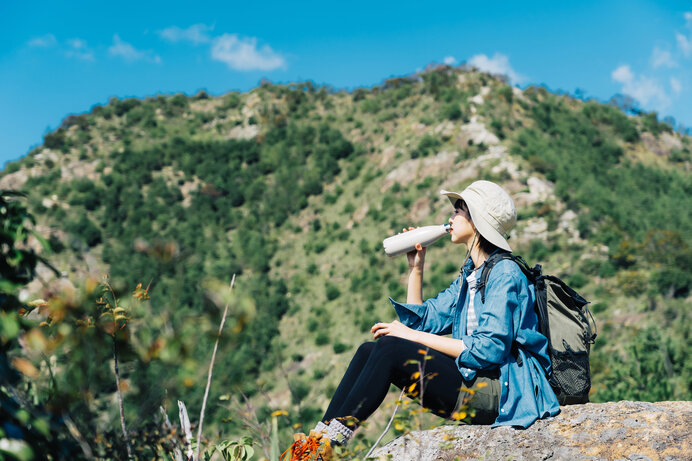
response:
{"label": "woman in denim shirt and hat sitting drinking on a rock", "polygon": [[[376,342],[362,344],[311,437],[298,437],[292,453],[320,445],[343,445],[384,400],[390,384],[416,394],[424,366],[422,404],[450,417],[475,388],[473,423],[528,427],[554,416],[559,405],[546,379],[550,359],[545,336],[537,331],[534,288],[511,260],[498,262],[476,296],[483,263],[496,252],[511,252],[507,235],[516,223],[510,196],[489,181],[461,193],[441,191],[454,206],[449,219],[452,243],[466,245],[461,275],[436,297],[423,300],[425,248],[408,253],[406,303],[390,298],[400,321],[372,327]],[[441,336],[451,333],[451,337]],[[421,349],[427,351],[425,360]],[[424,362],[424,363],[423,363]],[[485,385],[480,385],[484,383]],[[326,450],[326,451],[324,451]],[[296,458],[298,458],[296,456]]]}

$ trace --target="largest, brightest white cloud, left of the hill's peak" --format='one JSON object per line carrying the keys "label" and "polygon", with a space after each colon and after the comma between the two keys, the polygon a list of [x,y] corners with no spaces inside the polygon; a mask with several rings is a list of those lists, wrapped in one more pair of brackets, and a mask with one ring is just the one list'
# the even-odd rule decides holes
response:
{"label": "largest, brightest white cloud, left of the hill's peak", "polygon": [[216,37],[211,47],[211,57],[234,70],[274,70],[285,66],[284,58],[268,45],[257,48],[254,37],[239,38],[236,34]]}

